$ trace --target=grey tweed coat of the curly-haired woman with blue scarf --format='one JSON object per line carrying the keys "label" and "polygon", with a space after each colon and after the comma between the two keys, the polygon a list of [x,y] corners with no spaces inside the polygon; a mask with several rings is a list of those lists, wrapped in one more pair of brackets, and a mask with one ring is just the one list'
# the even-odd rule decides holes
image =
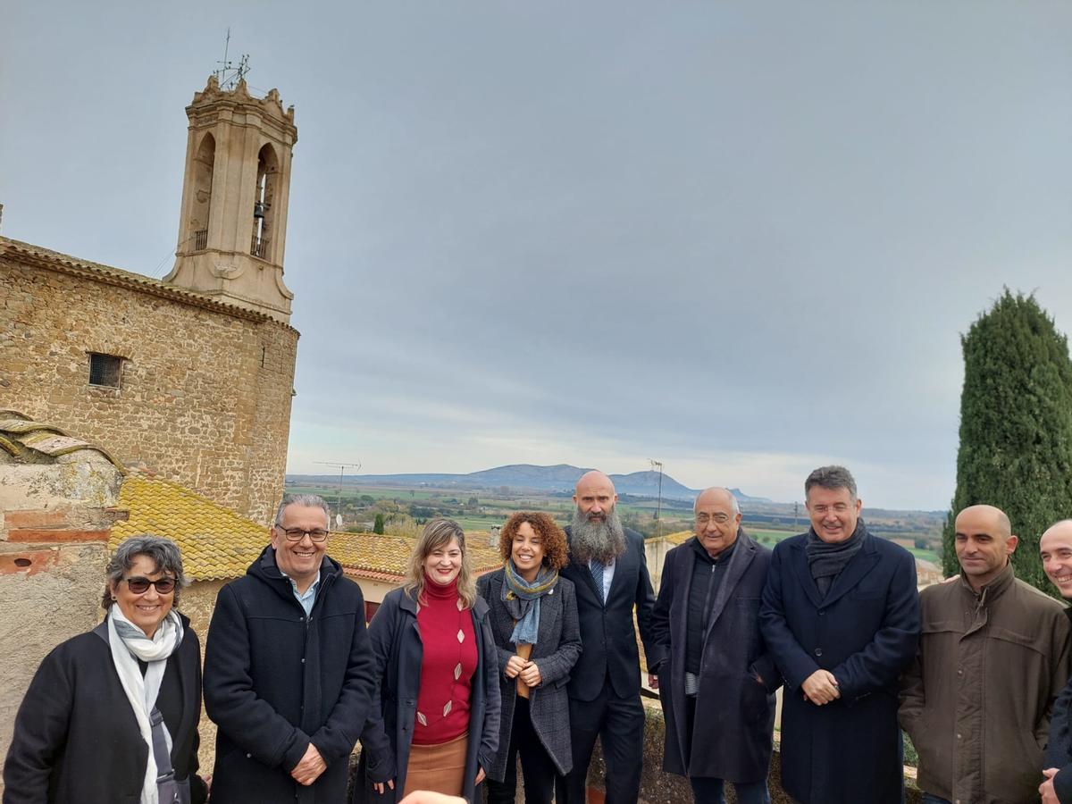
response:
{"label": "grey tweed coat of the curly-haired woman with blue scarf", "polygon": [[[513,702],[518,697],[518,680],[505,675],[506,662],[517,654],[517,645],[510,641],[513,617],[506,610],[502,597],[505,578],[505,570],[498,569],[481,576],[477,581],[480,595],[491,607],[491,628],[498,654],[498,688],[503,698],[498,750],[492,768],[487,769],[492,778],[502,778],[506,773],[513,730]],[[528,715],[544,749],[561,774],[568,773],[574,766],[566,684],[580,654],[581,631],[577,624],[574,584],[560,578],[554,589],[540,598],[539,631],[528,659],[536,662],[541,681],[538,687],[528,690]]]}

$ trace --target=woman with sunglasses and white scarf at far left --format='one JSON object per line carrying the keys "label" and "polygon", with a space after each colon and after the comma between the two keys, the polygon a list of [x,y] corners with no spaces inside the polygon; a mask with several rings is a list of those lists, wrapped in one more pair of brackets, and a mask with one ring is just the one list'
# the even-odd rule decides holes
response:
{"label": "woman with sunglasses and white scarf at far left", "polygon": [[200,646],[175,611],[170,539],[132,536],[108,563],[104,622],[57,646],[15,718],[4,803],[198,804]]}

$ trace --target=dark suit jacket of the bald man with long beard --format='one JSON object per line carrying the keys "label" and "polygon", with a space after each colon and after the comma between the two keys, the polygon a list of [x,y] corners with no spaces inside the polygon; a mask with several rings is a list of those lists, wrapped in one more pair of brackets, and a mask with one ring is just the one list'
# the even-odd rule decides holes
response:
{"label": "dark suit jacket of the bald man with long beard", "polygon": [[[569,528],[566,528],[569,536]],[[607,678],[614,695],[628,698],[640,695],[640,652],[632,627],[632,608],[637,607],[637,623],[644,654],[650,667],[661,658],[652,641],[652,609],[655,593],[647,575],[644,538],[636,531],[625,530],[625,552],[614,562],[614,578],[606,605],[596,591],[596,582],[587,564],[570,557],[560,575],[574,582],[577,592],[577,615],[581,626],[581,656],[569,679],[569,697],[592,701],[602,691]]]}

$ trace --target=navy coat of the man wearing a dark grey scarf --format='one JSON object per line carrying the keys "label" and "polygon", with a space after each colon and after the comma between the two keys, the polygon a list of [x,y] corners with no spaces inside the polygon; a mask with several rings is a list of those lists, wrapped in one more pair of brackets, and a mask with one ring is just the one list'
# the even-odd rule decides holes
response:
{"label": "navy coat of the man wearing a dark grey scarf", "polygon": [[[860,524],[863,527],[863,523]],[[800,534],[774,548],[760,627],[786,681],[781,785],[802,804],[904,800],[897,680],[920,638],[915,560],[864,534],[860,551],[819,594]],[[829,670],[840,698],[823,706],[800,686]]]}

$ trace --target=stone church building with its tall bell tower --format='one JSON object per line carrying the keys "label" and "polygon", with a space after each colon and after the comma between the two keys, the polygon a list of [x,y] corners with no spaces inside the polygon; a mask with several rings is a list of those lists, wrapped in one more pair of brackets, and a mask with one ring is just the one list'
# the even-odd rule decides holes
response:
{"label": "stone church building with its tall bell tower", "polygon": [[163,281],[0,237],[0,407],[268,523],[298,342],[283,283],[294,108],[212,77],[187,117]]}

